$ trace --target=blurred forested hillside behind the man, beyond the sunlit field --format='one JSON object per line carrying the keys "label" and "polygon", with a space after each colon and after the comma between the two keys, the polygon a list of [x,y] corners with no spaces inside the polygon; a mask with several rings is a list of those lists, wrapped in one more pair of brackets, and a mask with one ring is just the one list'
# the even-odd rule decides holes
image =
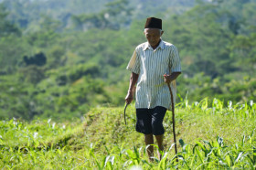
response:
{"label": "blurred forested hillside behind the man, beyond the sunlit field", "polygon": [[0,119],[123,107],[149,16],[179,50],[177,101],[253,102],[255,9],[256,0],[0,0]]}

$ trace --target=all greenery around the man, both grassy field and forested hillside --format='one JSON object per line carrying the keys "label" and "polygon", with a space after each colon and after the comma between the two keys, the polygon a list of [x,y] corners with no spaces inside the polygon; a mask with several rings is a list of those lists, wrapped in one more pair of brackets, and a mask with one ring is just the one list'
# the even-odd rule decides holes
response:
{"label": "all greenery around the man, both grassy field and forested hillside", "polygon": [[[255,0],[0,0],[0,167],[255,169],[255,8]],[[147,16],[163,18],[183,69],[178,154],[167,112],[165,152],[153,163],[134,132],[134,105],[123,122],[125,68]]]}

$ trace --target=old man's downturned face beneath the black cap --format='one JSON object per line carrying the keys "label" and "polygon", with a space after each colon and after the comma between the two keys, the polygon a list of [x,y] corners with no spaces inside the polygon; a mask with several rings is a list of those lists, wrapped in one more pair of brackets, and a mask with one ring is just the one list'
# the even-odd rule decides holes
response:
{"label": "old man's downturned face beneath the black cap", "polygon": [[147,42],[150,44],[151,47],[155,47],[158,45],[160,41],[160,37],[163,35],[163,31],[157,28],[145,28],[144,35],[147,39]]}

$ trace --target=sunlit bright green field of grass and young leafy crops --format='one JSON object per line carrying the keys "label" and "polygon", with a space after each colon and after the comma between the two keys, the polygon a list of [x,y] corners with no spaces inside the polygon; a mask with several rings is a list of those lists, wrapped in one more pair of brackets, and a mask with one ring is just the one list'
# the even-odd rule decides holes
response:
{"label": "sunlit bright green field of grass and young leafy crops", "polygon": [[[73,122],[12,119],[0,122],[2,169],[255,169],[256,104],[204,99],[176,104],[174,151],[171,112],[165,116],[165,152],[148,162],[144,136],[134,131],[134,105],[91,109]],[[157,150],[157,146],[155,146]],[[178,162],[176,162],[178,158]]]}

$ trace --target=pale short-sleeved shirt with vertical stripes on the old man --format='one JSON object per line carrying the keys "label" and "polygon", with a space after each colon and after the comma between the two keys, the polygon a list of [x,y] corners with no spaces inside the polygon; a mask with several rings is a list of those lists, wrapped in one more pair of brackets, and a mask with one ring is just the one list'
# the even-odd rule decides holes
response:
{"label": "pale short-sleeved shirt with vertical stripes on the old man", "polygon": [[[171,110],[171,95],[164,80],[164,74],[181,72],[177,48],[161,39],[155,50],[148,42],[137,46],[127,66],[128,70],[139,75],[136,87],[135,108],[152,109],[163,106]],[[176,80],[171,82],[176,102]]]}

